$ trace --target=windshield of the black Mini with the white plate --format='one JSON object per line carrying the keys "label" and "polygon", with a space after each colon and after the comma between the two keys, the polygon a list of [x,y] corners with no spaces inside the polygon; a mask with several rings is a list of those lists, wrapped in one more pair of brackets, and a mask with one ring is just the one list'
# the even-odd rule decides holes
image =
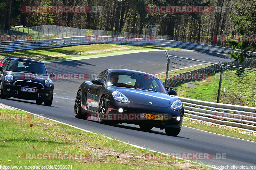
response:
{"label": "windshield of the black Mini with the white plate", "polygon": [[25,72],[25,73],[35,73],[35,74],[47,74],[44,63],[37,63],[32,61],[24,61],[24,60],[14,60],[12,59],[8,67],[7,71],[16,71],[16,72]]}

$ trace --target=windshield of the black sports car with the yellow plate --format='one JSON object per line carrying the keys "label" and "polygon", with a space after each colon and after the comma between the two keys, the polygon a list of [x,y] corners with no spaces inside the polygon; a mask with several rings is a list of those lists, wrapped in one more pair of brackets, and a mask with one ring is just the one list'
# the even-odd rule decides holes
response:
{"label": "windshield of the black sports car with the yellow plate", "polygon": [[163,83],[159,79],[148,74],[140,75],[133,73],[114,72],[108,74],[106,82],[108,86],[136,88],[167,94]]}

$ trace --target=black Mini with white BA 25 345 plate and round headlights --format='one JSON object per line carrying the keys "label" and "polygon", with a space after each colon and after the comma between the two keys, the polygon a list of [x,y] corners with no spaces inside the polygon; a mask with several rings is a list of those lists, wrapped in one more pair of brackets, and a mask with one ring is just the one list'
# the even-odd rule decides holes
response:
{"label": "black Mini with white BA 25 345 plate and round headlights", "polygon": [[20,57],[7,58],[0,67],[0,98],[14,97],[36,100],[36,103],[51,106],[53,83],[48,77],[44,63]]}

